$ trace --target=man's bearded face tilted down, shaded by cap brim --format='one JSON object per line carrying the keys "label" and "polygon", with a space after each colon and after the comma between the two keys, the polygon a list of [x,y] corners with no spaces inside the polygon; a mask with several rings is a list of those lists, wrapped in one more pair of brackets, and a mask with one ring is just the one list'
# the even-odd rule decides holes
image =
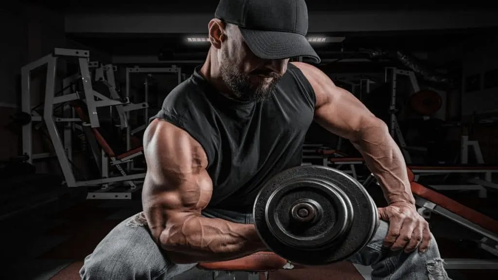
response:
{"label": "man's bearded face tilted down, shaded by cap brim", "polygon": [[228,29],[218,55],[223,82],[239,100],[267,100],[275,93],[289,59],[261,59],[249,49],[237,26]]}

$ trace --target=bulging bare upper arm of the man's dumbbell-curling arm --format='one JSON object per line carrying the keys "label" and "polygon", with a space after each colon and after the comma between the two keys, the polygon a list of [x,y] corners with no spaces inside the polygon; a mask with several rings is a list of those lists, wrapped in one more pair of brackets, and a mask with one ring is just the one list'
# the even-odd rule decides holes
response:
{"label": "bulging bare upper arm of the man's dumbbell-curling arm", "polygon": [[212,194],[206,171],[207,156],[188,133],[170,123],[155,120],[144,136],[147,162],[142,205],[153,236],[168,223],[200,215]]}

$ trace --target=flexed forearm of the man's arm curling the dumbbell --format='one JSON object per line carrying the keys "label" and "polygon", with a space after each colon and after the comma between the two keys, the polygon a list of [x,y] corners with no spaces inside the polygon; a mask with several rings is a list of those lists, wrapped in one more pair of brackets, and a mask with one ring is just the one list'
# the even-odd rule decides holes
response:
{"label": "flexed forearm of the man's arm curling the dumbbell", "polygon": [[241,258],[265,246],[254,225],[191,216],[182,226],[167,228],[159,239],[174,263],[218,262]]}

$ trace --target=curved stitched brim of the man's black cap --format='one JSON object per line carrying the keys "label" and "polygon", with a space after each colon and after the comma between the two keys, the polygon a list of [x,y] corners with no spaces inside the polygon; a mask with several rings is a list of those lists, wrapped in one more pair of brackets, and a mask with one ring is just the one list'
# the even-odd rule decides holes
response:
{"label": "curved stitched brim of the man's black cap", "polygon": [[274,60],[304,56],[320,63],[320,57],[306,36],[292,32],[239,29],[250,50],[260,58]]}

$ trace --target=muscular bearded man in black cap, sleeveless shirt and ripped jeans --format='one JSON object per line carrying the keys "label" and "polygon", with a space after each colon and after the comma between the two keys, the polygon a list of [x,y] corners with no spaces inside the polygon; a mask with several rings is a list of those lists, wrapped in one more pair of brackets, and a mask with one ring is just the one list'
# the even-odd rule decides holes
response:
{"label": "muscular bearded man in black cap, sleeveless shirt and ripped jeans", "polygon": [[267,250],[252,225],[259,188],[301,163],[313,121],[351,140],[389,205],[373,240],[350,261],[373,279],[446,280],[417,214],[402,154],[386,125],[316,67],[304,0],[221,0],[206,62],[176,87],[144,135],[143,213],[85,259],[83,279],[172,279],[199,262]]}

